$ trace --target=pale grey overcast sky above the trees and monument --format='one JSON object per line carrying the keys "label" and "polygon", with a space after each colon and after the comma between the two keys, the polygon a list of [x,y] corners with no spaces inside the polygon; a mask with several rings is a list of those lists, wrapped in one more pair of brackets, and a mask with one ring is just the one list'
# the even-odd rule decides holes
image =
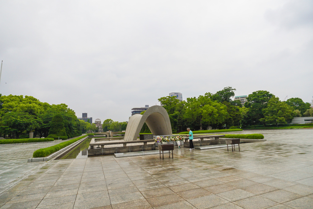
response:
{"label": "pale grey overcast sky above the trees and monument", "polygon": [[313,96],[313,1],[0,1],[0,93],[128,121],[236,88]]}

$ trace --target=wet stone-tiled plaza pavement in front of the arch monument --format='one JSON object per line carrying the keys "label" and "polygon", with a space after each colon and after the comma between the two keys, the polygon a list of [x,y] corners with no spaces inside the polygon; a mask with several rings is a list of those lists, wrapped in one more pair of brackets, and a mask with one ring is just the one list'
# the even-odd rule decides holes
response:
{"label": "wet stone-tiled plaza pavement in front of the arch monument", "polygon": [[312,208],[313,129],[241,133],[267,141],[49,161],[2,191],[0,208]]}

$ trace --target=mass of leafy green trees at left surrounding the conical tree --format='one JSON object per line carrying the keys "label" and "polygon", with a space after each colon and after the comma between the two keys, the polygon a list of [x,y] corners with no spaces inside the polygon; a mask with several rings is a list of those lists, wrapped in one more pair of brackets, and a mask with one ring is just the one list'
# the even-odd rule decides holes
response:
{"label": "mass of leafy green trees at left surrounding the conical tree", "polygon": [[65,104],[49,105],[30,96],[1,96],[0,134],[19,138],[21,134],[34,132],[35,136],[47,137],[51,120],[56,114],[61,114],[64,119],[66,136],[81,135],[80,121]]}

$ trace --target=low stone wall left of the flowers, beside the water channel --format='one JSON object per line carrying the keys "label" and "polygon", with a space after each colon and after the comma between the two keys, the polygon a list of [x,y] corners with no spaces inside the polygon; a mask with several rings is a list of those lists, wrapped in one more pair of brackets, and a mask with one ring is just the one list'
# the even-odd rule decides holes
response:
{"label": "low stone wall left of the flowers, beside the water channel", "polygon": [[93,155],[103,155],[103,154],[115,154],[115,153],[126,153],[126,152],[140,152],[156,150],[155,144],[142,144],[135,146],[125,146],[125,147],[110,147],[110,148],[88,148],[88,156]]}

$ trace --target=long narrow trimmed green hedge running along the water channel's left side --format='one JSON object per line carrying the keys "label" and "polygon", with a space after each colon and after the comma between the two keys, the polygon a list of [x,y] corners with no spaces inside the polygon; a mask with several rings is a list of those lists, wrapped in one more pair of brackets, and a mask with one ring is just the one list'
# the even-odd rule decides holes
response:
{"label": "long narrow trimmed green hedge running along the water channel's left side", "polygon": [[[56,144],[54,146],[51,147],[46,147],[46,148],[42,148],[42,149],[37,149],[36,151],[34,151],[33,153],[33,158],[40,158],[40,157],[46,157],[56,151],[59,151],[60,149],[69,146],[70,144],[73,144],[74,142],[77,142],[78,140],[86,137],[86,136],[90,136],[91,134],[86,134],[84,136],[80,136],[77,138],[73,138],[69,141],[66,142],[61,142],[60,144]],[[93,135],[93,134],[92,134]]]}

